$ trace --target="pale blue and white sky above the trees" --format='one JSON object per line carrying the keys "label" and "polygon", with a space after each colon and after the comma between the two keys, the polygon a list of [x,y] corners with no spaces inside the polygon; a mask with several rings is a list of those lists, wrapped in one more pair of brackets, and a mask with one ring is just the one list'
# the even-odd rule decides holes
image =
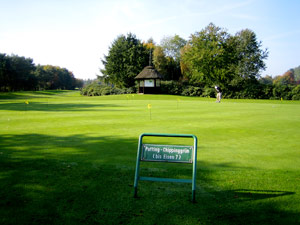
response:
{"label": "pale blue and white sky above the trees", "polygon": [[274,77],[300,65],[299,9],[298,0],[0,0],[0,53],[95,79],[119,35],[160,44],[214,23],[254,31],[269,51],[261,75]]}

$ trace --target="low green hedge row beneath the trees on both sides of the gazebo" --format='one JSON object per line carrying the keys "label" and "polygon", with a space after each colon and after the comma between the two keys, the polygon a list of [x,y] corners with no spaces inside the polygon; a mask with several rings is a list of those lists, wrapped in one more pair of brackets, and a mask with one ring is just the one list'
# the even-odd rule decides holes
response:
{"label": "low green hedge row beneath the trees on both sides of the gazebo", "polygon": [[[136,93],[137,88],[117,88],[94,82],[82,88],[81,94],[86,96],[117,95]],[[178,81],[162,81],[161,93],[183,96],[216,96],[213,86],[198,87]],[[261,84],[256,80],[241,81],[223,88],[223,97],[232,99],[284,99],[300,100],[300,85]]]}

